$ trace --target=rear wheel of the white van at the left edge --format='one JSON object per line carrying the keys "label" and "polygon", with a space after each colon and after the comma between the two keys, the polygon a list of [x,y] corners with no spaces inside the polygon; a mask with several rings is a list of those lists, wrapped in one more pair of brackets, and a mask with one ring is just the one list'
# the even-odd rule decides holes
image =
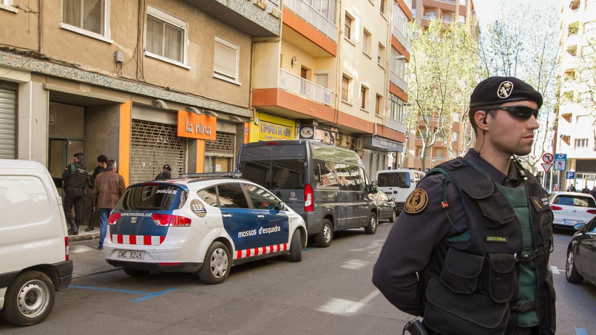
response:
{"label": "rear wheel of the white van at the left edge", "polygon": [[39,323],[52,311],[55,295],[54,284],[44,272],[23,272],[6,290],[2,316],[14,325]]}

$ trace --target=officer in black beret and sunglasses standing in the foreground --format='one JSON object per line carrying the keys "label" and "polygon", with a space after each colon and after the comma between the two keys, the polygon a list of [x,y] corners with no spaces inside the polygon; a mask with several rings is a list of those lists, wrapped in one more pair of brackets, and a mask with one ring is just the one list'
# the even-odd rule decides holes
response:
{"label": "officer in black beret and sunglasses standing in the foreground", "polygon": [[430,171],[406,199],[373,283],[430,334],[554,334],[552,212],[512,156],[532,150],[542,95],[489,77],[470,99],[476,144]]}

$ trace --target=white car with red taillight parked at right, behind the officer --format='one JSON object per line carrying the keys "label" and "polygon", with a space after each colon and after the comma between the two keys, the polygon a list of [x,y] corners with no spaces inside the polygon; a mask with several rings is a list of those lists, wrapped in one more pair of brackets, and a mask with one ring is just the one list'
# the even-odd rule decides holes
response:
{"label": "white car with red taillight parked at right, behind the officer", "polygon": [[596,215],[596,201],[590,194],[557,191],[551,194],[550,205],[555,227],[573,229]]}

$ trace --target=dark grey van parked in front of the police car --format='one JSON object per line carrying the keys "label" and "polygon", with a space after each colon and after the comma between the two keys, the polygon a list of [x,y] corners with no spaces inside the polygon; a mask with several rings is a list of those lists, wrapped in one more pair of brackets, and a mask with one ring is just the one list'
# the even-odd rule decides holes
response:
{"label": "dark grey van parked in front of the police car", "polygon": [[355,151],[305,140],[252,142],[241,146],[237,168],[302,215],[319,247],[331,244],[334,231],[377,231],[376,187]]}

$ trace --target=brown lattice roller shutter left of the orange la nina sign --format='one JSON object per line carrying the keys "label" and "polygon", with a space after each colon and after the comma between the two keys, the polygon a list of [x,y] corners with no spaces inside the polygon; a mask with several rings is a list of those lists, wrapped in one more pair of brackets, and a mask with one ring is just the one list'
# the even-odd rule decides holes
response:
{"label": "brown lattice roller shutter left of the orange la nina sign", "polygon": [[172,178],[180,178],[186,159],[186,139],[176,135],[175,125],[132,120],[131,184],[153,180],[164,164],[172,167]]}

